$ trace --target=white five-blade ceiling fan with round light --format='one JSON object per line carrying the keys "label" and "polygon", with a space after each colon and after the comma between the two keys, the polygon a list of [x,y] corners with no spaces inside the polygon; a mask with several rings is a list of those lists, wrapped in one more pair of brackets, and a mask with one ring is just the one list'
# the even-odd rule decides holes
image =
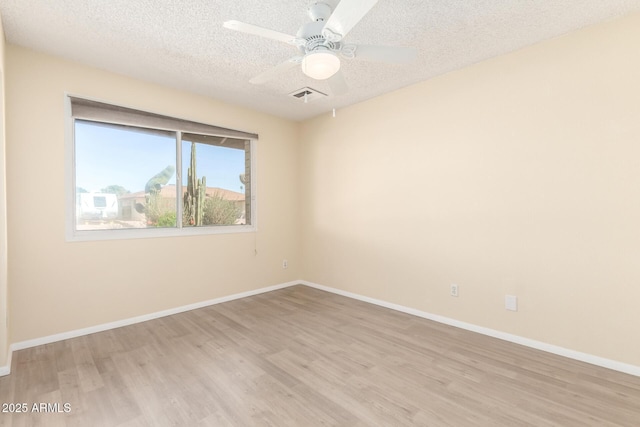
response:
{"label": "white five-blade ceiling fan with round light", "polygon": [[347,91],[347,84],[340,71],[338,55],[346,59],[399,64],[409,63],[416,57],[416,51],[412,48],[343,42],[349,31],[377,2],[378,0],[341,0],[335,10],[328,3],[316,2],[308,9],[311,22],[300,27],[295,36],[239,21],[226,21],[223,25],[231,30],[288,43],[300,51],[298,55],[255,76],[249,80],[251,83],[265,83],[300,65],[304,74],[316,80],[327,80],[331,91],[339,95]]}

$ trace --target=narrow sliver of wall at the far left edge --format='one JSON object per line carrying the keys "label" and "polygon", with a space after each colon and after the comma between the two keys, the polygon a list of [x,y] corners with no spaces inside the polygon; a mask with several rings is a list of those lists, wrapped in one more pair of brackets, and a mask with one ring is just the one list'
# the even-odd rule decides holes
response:
{"label": "narrow sliver of wall at the far left edge", "polygon": [[7,204],[4,132],[4,29],[0,19],[0,368],[7,364],[9,350],[7,290]]}

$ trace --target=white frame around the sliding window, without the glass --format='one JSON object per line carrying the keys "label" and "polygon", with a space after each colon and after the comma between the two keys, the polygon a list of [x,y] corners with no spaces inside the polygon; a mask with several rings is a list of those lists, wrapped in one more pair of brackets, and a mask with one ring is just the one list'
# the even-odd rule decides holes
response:
{"label": "white frame around the sliding window, without the glass", "polygon": [[[176,221],[176,227],[149,227],[149,228],[126,228],[126,229],[113,229],[113,230],[77,230],[76,229],[76,195],[75,195],[75,117],[72,113],[71,98],[82,98],[87,101],[95,101],[110,104],[113,106],[122,105],[104,102],[92,98],[83,96],[76,96],[65,93],[64,96],[64,114],[65,114],[65,237],[68,242],[77,241],[94,241],[94,240],[120,240],[120,239],[144,239],[144,238],[158,238],[158,237],[177,237],[177,236],[199,236],[199,235],[212,235],[212,234],[231,234],[231,233],[250,233],[257,231],[257,136],[255,138],[247,138],[250,141],[250,164],[251,164],[251,216],[250,224],[238,224],[238,225],[220,225],[220,226],[199,226],[199,227],[183,227],[181,221]],[[155,114],[151,113],[150,114]],[[175,118],[176,120],[184,120]],[[113,124],[122,124],[112,122]],[[182,150],[179,149],[181,145],[180,130],[167,129],[178,132],[177,150],[176,150],[176,165],[181,164],[180,157]],[[176,170],[176,173],[179,173]],[[186,171],[184,171],[186,173]],[[178,191],[181,193],[182,179],[177,179]],[[179,199],[179,198],[178,198]],[[176,208],[176,217],[182,213],[182,203],[178,201]]]}

